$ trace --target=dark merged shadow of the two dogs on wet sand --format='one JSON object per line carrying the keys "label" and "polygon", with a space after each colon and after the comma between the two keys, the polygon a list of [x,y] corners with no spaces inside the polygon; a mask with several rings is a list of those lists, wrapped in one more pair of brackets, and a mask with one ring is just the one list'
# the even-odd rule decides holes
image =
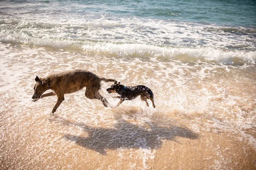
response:
{"label": "dark merged shadow of the two dogs on wet sand", "polygon": [[186,127],[175,125],[163,126],[160,123],[150,122],[146,127],[129,123],[120,117],[116,118],[117,123],[113,128],[90,127],[83,123],[73,123],[64,118],[55,116],[52,122],[62,123],[63,125],[72,125],[82,128],[88,136],[74,136],[66,134],[64,139],[76,142],[82,147],[105,155],[108,149],[116,150],[119,148],[144,148],[159,149],[163,140],[175,141],[175,137],[180,136],[188,139],[198,139],[197,133]]}

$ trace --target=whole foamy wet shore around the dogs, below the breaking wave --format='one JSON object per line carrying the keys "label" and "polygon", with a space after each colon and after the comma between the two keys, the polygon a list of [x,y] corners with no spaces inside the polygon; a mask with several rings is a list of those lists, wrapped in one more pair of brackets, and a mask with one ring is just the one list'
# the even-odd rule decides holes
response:
{"label": "whole foamy wet shore around the dogs, below the breaking wave", "polygon": [[[255,65],[108,57],[1,43],[1,169],[253,169]],[[143,84],[156,108],[105,90],[108,108],[84,90],[32,102],[35,76],[87,69]]]}

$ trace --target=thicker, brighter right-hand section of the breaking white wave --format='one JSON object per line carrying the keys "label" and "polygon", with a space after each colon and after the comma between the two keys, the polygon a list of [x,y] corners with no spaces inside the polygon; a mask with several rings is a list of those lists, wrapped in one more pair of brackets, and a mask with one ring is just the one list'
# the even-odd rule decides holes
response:
{"label": "thicker, brighter right-hand section of the breaking white wave", "polygon": [[173,48],[145,44],[88,43],[82,50],[93,53],[116,55],[118,57],[157,57],[158,59],[175,59],[194,61],[204,59],[227,65],[256,63],[256,51],[229,51],[214,48]]}

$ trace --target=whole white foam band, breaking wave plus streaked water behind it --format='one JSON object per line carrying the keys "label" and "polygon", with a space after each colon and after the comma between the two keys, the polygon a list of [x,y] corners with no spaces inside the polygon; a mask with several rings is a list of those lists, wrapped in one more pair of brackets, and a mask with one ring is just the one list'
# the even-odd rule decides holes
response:
{"label": "whole white foam band, breaking wave plus streaked water behind it", "polygon": [[256,60],[255,38],[249,28],[209,27],[136,17],[109,19],[104,15],[94,20],[39,17],[32,21],[20,18],[14,24],[7,20],[3,20],[0,42],[121,57],[148,55],[180,59],[188,56],[224,64],[255,63]]}

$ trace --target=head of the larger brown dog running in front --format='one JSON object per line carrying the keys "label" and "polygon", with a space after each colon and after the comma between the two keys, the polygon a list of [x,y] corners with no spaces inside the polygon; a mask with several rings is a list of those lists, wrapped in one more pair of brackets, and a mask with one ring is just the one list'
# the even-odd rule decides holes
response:
{"label": "head of the larger brown dog running in front", "polygon": [[39,77],[36,77],[35,81],[36,83],[34,86],[34,94],[32,96],[32,99],[39,99],[42,94],[47,91],[51,86],[47,79],[41,79]]}

